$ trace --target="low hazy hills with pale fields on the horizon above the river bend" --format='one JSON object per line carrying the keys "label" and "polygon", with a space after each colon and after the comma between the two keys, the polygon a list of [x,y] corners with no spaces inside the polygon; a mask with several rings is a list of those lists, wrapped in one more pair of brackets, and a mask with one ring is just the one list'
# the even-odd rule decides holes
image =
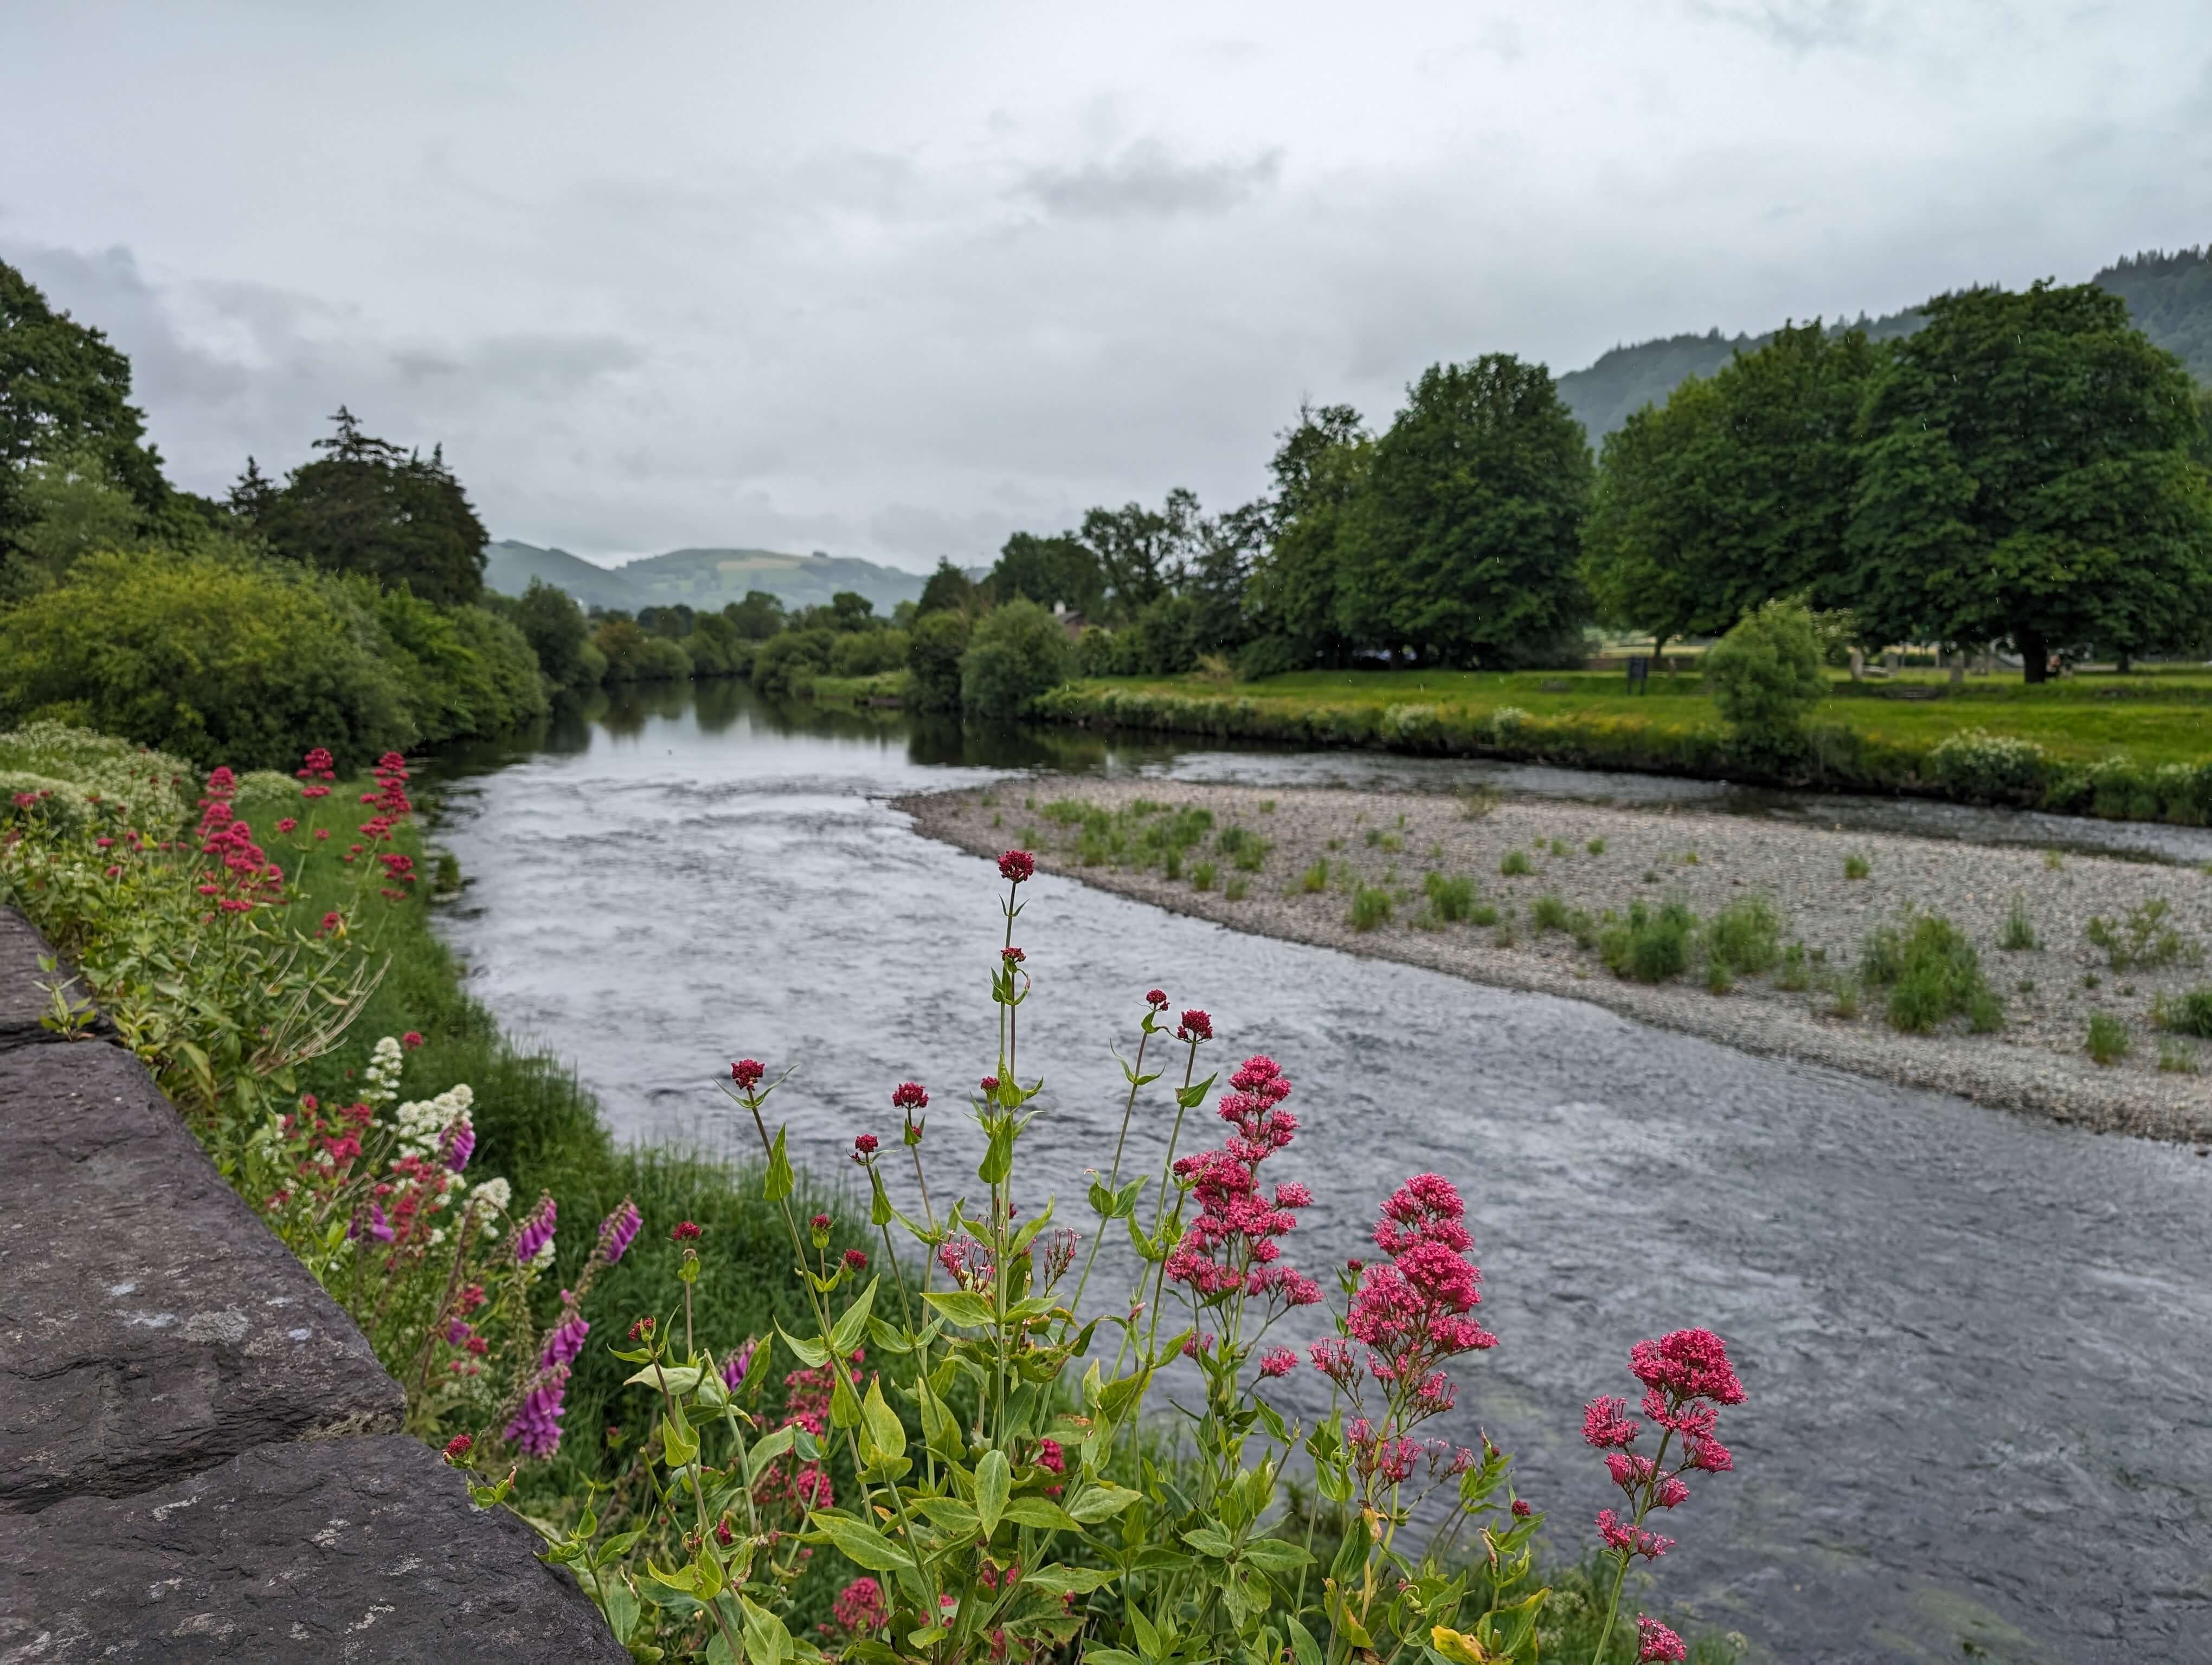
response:
{"label": "low hazy hills with pale fields on the horizon above the river bend", "polygon": [[714,610],[743,601],[745,590],[768,590],[787,608],[825,606],[838,590],[858,590],[889,612],[918,601],[922,575],[878,566],[854,555],[781,555],[772,548],[672,548],[622,566],[593,566],[564,548],[502,540],[484,553],[484,584],[500,595],[522,595],[531,579],[568,590],[584,606],[637,608],[684,601]]}

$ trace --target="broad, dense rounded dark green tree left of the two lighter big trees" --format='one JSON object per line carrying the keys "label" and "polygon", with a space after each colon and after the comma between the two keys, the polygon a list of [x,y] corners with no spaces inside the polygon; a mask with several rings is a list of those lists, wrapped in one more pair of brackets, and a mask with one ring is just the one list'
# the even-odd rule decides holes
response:
{"label": "broad, dense rounded dark green tree left of the two lighter big trees", "polygon": [[1425,663],[1557,652],[1582,624],[1590,447],[1544,365],[1431,365],[1347,515],[1338,628]]}

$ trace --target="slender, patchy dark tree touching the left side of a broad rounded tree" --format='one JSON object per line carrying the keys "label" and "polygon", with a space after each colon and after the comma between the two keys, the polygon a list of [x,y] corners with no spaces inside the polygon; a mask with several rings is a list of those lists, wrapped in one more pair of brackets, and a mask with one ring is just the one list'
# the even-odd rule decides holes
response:
{"label": "slender, patchy dark tree touching the left side of a broad rounded tree", "polygon": [[1263,646],[1281,646],[1283,663],[1340,666],[1354,646],[1338,628],[1340,535],[1367,484],[1374,440],[1349,405],[1301,405],[1276,438],[1267,546],[1248,586],[1252,624],[1272,639]]}

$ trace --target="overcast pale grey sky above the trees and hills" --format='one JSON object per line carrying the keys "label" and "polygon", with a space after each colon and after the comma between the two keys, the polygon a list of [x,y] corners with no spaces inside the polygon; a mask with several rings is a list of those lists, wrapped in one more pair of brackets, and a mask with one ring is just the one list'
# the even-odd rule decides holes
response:
{"label": "overcast pale grey sky above the trees and hills", "polygon": [[2205,0],[0,4],[0,259],[181,484],[345,400],[595,559],[989,559],[1440,358],[2208,239]]}

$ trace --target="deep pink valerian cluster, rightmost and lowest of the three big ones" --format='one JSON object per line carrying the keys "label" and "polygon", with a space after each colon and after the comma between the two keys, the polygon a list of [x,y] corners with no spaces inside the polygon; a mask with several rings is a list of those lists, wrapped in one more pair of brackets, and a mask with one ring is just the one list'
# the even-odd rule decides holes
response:
{"label": "deep pink valerian cluster, rightmost and lowest of the three big ones", "polygon": [[1584,1444],[1606,1453],[1606,1473],[1628,1499],[1630,1519],[1615,1510],[1597,1517],[1597,1535],[1626,1561],[1657,1561],[1674,1539],[1641,1526],[1655,1508],[1677,1508],[1690,1497],[1688,1473],[1719,1475],[1734,1468],[1714,1437],[1723,1404],[1743,1404],[1743,1382],[1728,1362],[1728,1344],[1710,1329],[1677,1329],[1628,1349],[1628,1369],[1644,1384],[1641,1411],[1661,1428],[1659,1448],[1635,1451],[1644,1424],[1628,1415],[1628,1400],[1604,1393],[1582,1411]]}

